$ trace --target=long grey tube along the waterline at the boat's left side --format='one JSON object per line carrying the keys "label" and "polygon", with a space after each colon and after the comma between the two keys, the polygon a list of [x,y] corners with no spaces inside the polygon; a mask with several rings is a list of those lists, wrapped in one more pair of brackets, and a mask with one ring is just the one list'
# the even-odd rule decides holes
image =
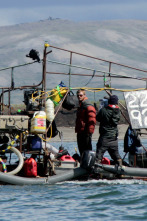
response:
{"label": "long grey tube along the waterline at the boat's left side", "polygon": [[55,184],[57,182],[63,182],[71,179],[75,179],[79,176],[87,174],[87,171],[81,167],[69,170],[67,173],[54,175],[44,178],[27,178],[19,177],[7,173],[0,172],[0,181],[6,184],[14,185],[38,185],[38,184]]}

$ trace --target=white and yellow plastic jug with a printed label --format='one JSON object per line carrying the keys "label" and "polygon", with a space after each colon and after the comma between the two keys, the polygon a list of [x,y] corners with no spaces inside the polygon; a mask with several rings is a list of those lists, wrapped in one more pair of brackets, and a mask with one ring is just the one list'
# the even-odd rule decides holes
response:
{"label": "white and yellow plastic jug with a printed label", "polygon": [[46,113],[44,111],[37,111],[34,113],[31,119],[31,133],[46,133]]}

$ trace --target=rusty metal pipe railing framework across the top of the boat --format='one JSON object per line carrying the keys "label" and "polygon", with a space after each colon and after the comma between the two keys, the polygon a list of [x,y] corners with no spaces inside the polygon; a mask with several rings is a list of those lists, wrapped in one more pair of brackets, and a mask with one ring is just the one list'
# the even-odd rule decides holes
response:
{"label": "rusty metal pipe railing framework across the top of the boat", "polygon": [[[45,47],[44,48],[43,59],[41,60],[41,65],[43,65],[42,79],[41,79],[41,82],[39,82],[37,85],[24,85],[24,86],[20,86],[20,87],[15,87],[14,86],[15,79],[14,79],[14,74],[13,74],[15,68],[23,67],[23,66],[26,66],[26,65],[31,65],[31,64],[34,64],[36,61],[0,69],[0,72],[8,70],[8,69],[11,70],[11,86],[10,87],[0,87],[0,89],[1,89],[1,94],[0,94],[0,110],[1,110],[1,113],[3,112],[3,109],[4,109],[4,93],[6,93],[6,92],[8,93],[8,107],[9,107],[8,109],[10,109],[10,106],[11,106],[10,93],[11,93],[11,91],[14,91],[14,90],[17,90],[17,89],[23,90],[23,89],[27,89],[27,88],[35,88],[35,87],[39,87],[39,86],[42,86],[42,90],[46,91],[46,74],[57,74],[57,75],[61,74],[61,75],[69,76],[69,88],[71,86],[71,75],[89,76],[89,77],[93,77],[93,76],[94,77],[103,77],[104,79],[107,75],[107,77],[110,77],[110,81],[111,81],[111,78],[131,78],[131,79],[142,80],[142,81],[147,82],[147,78],[145,78],[145,77],[132,77],[132,76],[129,76],[129,75],[124,76],[124,75],[112,73],[112,65],[116,65],[116,66],[124,67],[124,68],[127,68],[127,69],[139,71],[140,73],[142,73],[142,72],[147,73],[147,70],[135,68],[135,67],[132,67],[132,66],[120,64],[120,63],[117,63],[117,62],[113,62],[113,61],[109,61],[109,60],[105,60],[105,59],[101,59],[101,58],[97,58],[97,57],[94,57],[94,56],[89,56],[89,55],[78,53],[78,52],[71,51],[71,50],[66,50],[66,49],[63,49],[63,48],[55,47],[53,45],[50,45],[49,48],[69,53],[69,63],[64,63],[64,62],[61,62],[61,61],[55,61],[55,60],[47,59],[47,55],[51,51],[47,52],[48,47]],[[73,55],[78,55],[78,56],[94,59],[94,60],[97,60],[97,61],[102,61],[102,62],[108,64],[108,71],[95,70],[93,68],[82,67],[80,65],[74,65],[73,64]],[[60,64],[60,65],[68,66],[69,71],[68,71],[68,73],[47,71],[46,70],[46,62],[49,62],[49,63],[52,63],[52,64]],[[71,68],[78,68],[78,69],[81,69],[81,70],[90,70],[93,73],[92,74],[72,73]],[[104,80],[104,83],[105,83],[105,80]]]}

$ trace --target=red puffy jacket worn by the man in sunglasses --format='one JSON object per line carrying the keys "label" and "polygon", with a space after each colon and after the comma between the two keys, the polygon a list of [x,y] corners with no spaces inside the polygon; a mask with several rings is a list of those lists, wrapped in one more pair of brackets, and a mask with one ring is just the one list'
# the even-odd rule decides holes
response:
{"label": "red puffy jacket worn by the man in sunglasses", "polygon": [[93,134],[95,124],[96,110],[86,99],[80,103],[80,107],[77,110],[75,132],[86,132],[87,134]]}

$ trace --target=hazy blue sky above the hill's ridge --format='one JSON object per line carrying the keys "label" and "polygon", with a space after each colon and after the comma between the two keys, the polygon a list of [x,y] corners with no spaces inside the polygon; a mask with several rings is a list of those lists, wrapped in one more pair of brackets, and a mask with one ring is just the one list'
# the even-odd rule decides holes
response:
{"label": "hazy blue sky above the hill's ridge", "polygon": [[61,18],[147,20],[147,0],[0,0],[0,26]]}

